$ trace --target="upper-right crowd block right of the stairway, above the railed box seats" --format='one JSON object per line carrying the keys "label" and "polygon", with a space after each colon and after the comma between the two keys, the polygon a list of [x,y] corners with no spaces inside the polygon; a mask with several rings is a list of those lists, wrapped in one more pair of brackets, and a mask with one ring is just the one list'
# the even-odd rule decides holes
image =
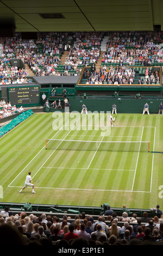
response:
{"label": "upper-right crowd block right of the stairway, above the railed box seats", "polygon": [[110,32],[104,63],[151,66],[163,62],[162,32]]}

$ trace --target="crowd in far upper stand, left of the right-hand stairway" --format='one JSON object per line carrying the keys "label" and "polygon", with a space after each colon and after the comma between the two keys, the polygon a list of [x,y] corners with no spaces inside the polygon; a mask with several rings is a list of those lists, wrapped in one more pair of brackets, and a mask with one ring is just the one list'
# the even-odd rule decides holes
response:
{"label": "crowd in far upper stand, left of the right-hand stairway", "polygon": [[[65,60],[64,72],[59,72],[56,68],[60,64],[60,58],[64,51],[65,39],[71,35],[76,41],[76,47],[69,45],[67,50],[69,55]],[[71,65],[71,70],[76,71],[71,75],[80,74],[82,69],[79,65],[89,65],[96,63],[100,54],[100,44],[102,32],[76,32],[76,33],[39,33],[37,40],[24,40],[21,34],[16,33],[14,38],[1,38],[0,44],[4,51],[1,55],[1,71],[5,72],[5,77],[19,76],[17,70],[11,70],[10,58],[21,59],[24,64],[34,72],[35,76],[59,76],[70,75],[67,71]],[[12,67],[13,68],[13,67]],[[26,71],[27,72],[27,71]],[[29,74],[26,74],[28,76]],[[0,74],[1,77],[1,74]]]}

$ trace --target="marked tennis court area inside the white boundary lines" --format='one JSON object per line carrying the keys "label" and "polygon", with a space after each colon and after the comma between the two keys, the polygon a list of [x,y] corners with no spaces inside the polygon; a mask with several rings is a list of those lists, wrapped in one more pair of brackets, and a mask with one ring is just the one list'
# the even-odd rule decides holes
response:
{"label": "marked tennis court area inside the white boundary lines", "polygon": [[[144,126],[114,126],[110,136],[107,137],[101,136],[101,130],[96,131],[95,127],[92,127],[91,135],[88,129],[77,131],[76,127],[70,131],[58,131],[53,139],[47,142],[45,152],[47,159],[40,163],[40,168],[35,170],[34,176],[43,180],[43,176],[48,172],[52,181],[48,182],[48,186],[43,187],[48,189],[150,191],[151,182],[148,182],[147,189],[147,187],[135,186],[137,184],[135,179],[138,179],[137,176],[139,179],[140,176],[143,178],[142,167],[150,167],[148,179],[149,181],[151,179],[153,156],[148,153],[150,137],[147,135],[153,133],[154,137],[154,132],[155,127]],[[144,142],[143,139],[148,140]],[[154,142],[151,142],[151,147],[153,144]],[[39,154],[36,157],[39,157]],[[26,172],[31,169],[31,165],[33,165],[32,162],[25,168]],[[80,180],[75,184],[74,173],[76,179],[78,176]],[[127,180],[122,183],[120,177],[123,175],[127,175]],[[85,184],[88,176],[90,178]],[[51,185],[52,182],[53,185]]]}

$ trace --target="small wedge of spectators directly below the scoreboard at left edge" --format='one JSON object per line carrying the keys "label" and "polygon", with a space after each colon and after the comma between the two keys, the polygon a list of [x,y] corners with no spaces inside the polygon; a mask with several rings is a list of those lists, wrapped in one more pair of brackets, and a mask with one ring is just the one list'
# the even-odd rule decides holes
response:
{"label": "small wedge of spectators directly below the scoreboard at left edge", "polygon": [[22,106],[16,107],[16,105],[11,105],[11,102],[5,102],[5,100],[0,102],[0,119],[23,111]]}

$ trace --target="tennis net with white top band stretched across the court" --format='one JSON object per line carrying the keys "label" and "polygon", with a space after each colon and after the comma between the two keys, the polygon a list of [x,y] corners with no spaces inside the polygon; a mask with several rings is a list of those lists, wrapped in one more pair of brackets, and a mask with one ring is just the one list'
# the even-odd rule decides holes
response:
{"label": "tennis net with white top band stretched across the court", "polygon": [[68,139],[46,139],[46,149],[84,151],[130,151],[149,152],[149,142],[120,141],[76,141]]}

